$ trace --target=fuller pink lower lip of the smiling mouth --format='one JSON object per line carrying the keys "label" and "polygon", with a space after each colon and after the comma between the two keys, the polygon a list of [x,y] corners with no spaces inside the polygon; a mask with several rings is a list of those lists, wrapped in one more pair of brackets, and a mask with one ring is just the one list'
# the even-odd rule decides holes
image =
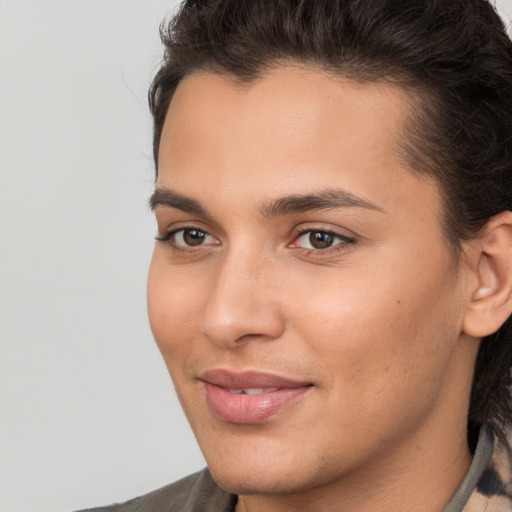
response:
{"label": "fuller pink lower lip of the smiling mouth", "polygon": [[205,383],[206,398],[211,411],[229,423],[261,423],[290,406],[307,393],[311,386],[280,388],[272,393],[245,395]]}

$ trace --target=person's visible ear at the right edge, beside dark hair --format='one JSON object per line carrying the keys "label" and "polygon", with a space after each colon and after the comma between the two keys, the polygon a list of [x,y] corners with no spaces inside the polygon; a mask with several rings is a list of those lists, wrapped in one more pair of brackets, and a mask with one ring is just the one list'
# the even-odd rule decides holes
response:
{"label": "person's visible ear at the right edge, beside dark hair", "polygon": [[473,242],[477,285],[470,290],[462,330],[482,338],[496,332],[512,314],[512,212],[493,217]]}

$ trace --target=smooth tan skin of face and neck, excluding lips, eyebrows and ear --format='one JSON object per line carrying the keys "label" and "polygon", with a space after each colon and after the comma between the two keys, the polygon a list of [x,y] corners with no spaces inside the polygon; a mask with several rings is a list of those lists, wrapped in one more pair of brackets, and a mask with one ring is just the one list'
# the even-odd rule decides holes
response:
{"label": "smooth tan skin of face and neck, excluding lips, eyebrows and ear", "polygon": [[[454,261],[438,186],[400,157],[410,109],[390,84],[295,67],[248,85],[195,74],[172,100],[157,188],[204,211],[155,204],[159,236],[177,232],[155,245],[149,316],[238,511],[441,511],[471,462],[475,265]],[[365,205],[268,211],[327,189]],[[187,245],[183,229],[205,235]],[[240,425],[208,406],[199,376],[212,368],[313,385]]]}

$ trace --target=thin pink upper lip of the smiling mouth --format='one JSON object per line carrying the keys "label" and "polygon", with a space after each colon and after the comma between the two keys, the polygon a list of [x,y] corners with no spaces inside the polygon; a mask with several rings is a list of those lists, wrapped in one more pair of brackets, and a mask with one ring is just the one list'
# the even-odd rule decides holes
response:
{"label": "thin pink upper lip of the smiling mouth", "polygon": [[206,370],[201,373],[199,378],[208,384],[228,389],[302,388],[312,385],[311,382],[281,377],[271,373],[255,371],[235,372],[225,369]]}

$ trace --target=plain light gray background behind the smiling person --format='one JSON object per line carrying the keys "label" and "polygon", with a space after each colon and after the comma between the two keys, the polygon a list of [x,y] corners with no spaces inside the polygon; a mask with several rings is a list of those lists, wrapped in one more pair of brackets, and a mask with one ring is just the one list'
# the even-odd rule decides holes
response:
{"label": "plain light gray background behind the smiling person", "polygon": [[146,92],[176,5],[0,0],[1,512],[126,500],[204,464],[145,306]]}

